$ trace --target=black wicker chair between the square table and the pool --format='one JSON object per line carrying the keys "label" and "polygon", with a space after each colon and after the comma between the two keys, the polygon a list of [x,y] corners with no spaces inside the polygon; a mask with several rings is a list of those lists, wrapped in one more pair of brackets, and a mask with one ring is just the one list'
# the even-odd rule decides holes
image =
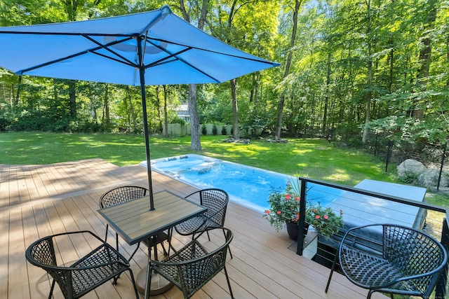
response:
{"label": "black wicker chair between the square table and the pool", "polygon": [[[208,210],[199,216],[175,225],[175,230],[178,234],[192,235],[192,239],[194,239],[197,233],[204,231],[208,233],[209,228],[223,228],[223,225],[225,225],[227,203],[229,202],[227,192],[217,188],[198,190],[187,195],[185,198],[196,194],[199,194],[200,204],[207,207]],[[225,233],[225,230],[223,230],[223,233]],[[208,238],[210,240],[209,233]],[[230,249],[229,255],[232,258]]]}

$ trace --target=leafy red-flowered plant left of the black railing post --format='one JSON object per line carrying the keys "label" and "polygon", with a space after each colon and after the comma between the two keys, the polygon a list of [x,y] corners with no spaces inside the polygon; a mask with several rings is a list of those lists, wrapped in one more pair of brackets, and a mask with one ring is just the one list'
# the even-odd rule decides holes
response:
{"label": "leafy red-flowered plant left of the black railing post", "polygon": [[[297,223],[300,220],[300,182],[293,183],[288,179],[285,190],[274,190],[268,197],[270,209],[264,213],[269,223],[276,228],[277,231],[282,230],[286,223]],[[311,221],[311,213],[306,207],[307,223]]]}

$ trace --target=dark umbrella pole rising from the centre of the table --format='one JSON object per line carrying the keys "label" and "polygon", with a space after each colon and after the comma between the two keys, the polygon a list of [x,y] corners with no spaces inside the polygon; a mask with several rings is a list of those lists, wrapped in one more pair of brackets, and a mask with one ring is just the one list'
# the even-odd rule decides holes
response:
{"label": "dark umbrella pole rising from the centre of the table", "polygon": [[138,41],[138,55],[139,55],[139,75],[140,75],[140,94],[142,96],[143,109],[143,131],[145,134],[145,151],[147,157],[147,174],[148,174],[148,190],[149,190],[149,209],[154,210],[153,198],[153,184],[152,184],[152,167],[149,156],[149,130],[148,130],[148,116],[147,116],[147,96],[145,92],[145,69],[142,67],[142,44]]}

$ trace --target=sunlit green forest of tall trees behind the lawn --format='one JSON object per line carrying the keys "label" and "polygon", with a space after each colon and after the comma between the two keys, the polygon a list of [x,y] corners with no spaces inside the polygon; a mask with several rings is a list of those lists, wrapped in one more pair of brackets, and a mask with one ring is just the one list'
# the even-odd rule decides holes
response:
{"label": "sunlit green forest of tall trees behind the lawn", "polygon": [[[233,125],[225,134],[236,139],[261,130],[278,140],[325,137],[356,146],[382,139],[407,153],[448,139],[448,0],[4,0],[0,25],[87,20],[164,4],[281,67],[198,85],[193,95],[189,85],[148,86],[152,134],[182,123],[175,111],[194,101],[200,123]],[[0,131],[141,133],[141,109],[137,87],[0,69]]]}

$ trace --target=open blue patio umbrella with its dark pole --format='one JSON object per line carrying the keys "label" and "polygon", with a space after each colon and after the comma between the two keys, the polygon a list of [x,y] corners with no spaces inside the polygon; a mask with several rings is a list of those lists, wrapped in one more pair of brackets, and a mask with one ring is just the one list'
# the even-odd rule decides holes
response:
{"label": "open blue patio umbrella with its dark pole", "polygon": [[111,18],[0,27],[0,67],[18,75],[140,85],[150,209],[154,209],[145,85],[221,83],[279,64],[158,10]]}

